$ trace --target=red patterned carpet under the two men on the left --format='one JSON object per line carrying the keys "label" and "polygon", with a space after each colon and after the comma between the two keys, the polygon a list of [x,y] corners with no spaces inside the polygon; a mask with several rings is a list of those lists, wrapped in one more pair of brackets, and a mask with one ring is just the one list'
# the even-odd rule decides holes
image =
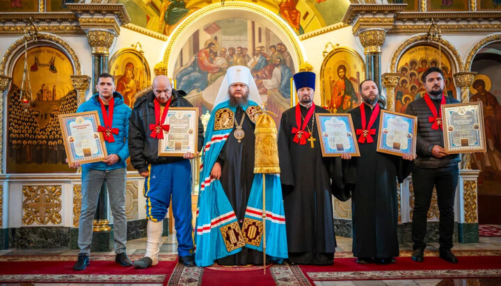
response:
{"label": "red patterned carpet under the two men on the left", "polygon": [[[129,255],[138,260],[142,255]],[[163,283],[170,277],[177,255],[160,255],[157,267],[134,269],[115,263],[115,255],[92,255],[90,265],[74,271],[74,255],[0,256],[1,283]]]}

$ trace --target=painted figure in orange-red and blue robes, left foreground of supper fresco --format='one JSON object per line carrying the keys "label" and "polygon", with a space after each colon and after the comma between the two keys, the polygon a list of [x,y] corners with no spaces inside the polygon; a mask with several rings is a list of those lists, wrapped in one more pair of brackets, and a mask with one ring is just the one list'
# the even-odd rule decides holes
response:
{"label": "painted figure in orange-red and blue robes, left foreground of supper fresco", "polygon": [[211,60],[211,54],[218,49],[216,41],[207,40],[205,44],[205,48],[193,55],[185,67],[175,74],[178,90],[184,90],[186,93],[190,93],[192,90],[202,91],[209,85],[209,73],[215,74],[220,71],[221,67]]}

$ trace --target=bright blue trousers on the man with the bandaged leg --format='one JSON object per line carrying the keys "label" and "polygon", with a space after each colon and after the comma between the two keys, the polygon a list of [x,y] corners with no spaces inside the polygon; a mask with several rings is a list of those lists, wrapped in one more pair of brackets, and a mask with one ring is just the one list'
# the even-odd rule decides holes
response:
{"label": "bright blue trousers on the man with the bandaged leg", "polygon": [[150,164],[145,180],[146,219],[165,218],[170,198],[175,221],[177,253],[191,255],[193,226],[191,225],[191,164],[189,160],[170,164]]}

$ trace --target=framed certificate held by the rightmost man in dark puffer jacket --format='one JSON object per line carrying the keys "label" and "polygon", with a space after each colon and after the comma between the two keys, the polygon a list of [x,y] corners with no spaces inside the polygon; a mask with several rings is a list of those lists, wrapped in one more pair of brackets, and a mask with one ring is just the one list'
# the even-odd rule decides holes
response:
{"label": "framed certificate held by the rightmost man in dark puffer jacket", "polygon": [[486,152],[482,102],[442,105],[447,153]]}

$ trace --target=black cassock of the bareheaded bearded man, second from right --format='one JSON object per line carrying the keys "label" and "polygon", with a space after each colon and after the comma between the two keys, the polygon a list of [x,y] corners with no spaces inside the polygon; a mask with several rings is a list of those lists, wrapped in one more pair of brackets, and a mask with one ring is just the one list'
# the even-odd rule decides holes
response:
{"label": "black cassock of the bareheaded bearded man, second from right", "polygon": [[[360,108],[349,113],[355,129],[362,129]],[[371,114],[372,109],[365,104],[367,128]],[[379,117],[372,125],[376,129],[376,135],[372,135],[374,142],[358,143],[360,157],[350,160],[350,165],[356,170],[356,185],[351,190],[355,257],[399,256],[397,177],[399,182],[403,181],[404,168],[408,170],[411,164],[395,155],[376,152]]]}

